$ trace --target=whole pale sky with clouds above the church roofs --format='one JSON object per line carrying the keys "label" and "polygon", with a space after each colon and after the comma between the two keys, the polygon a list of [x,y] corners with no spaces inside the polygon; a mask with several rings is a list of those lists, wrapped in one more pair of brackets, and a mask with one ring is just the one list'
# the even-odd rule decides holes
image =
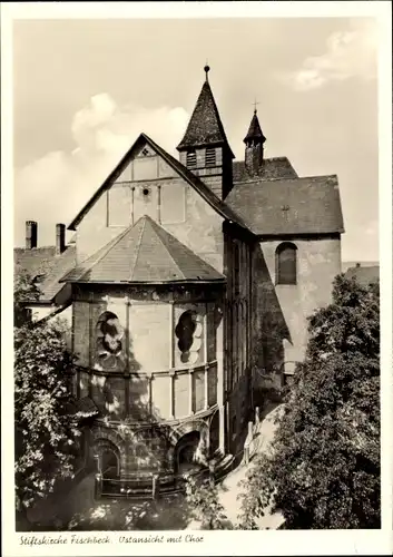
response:
{"label": "whole pale sky with clouds above the church roofs", "polygon": [[266,157],[337,174],[343,261],[377,261],[376,38],[367,18],[14,21],[14,244],[27,219],[53,244],[141,131],[177,156],[208,60],[236,159],[257,100]]}

